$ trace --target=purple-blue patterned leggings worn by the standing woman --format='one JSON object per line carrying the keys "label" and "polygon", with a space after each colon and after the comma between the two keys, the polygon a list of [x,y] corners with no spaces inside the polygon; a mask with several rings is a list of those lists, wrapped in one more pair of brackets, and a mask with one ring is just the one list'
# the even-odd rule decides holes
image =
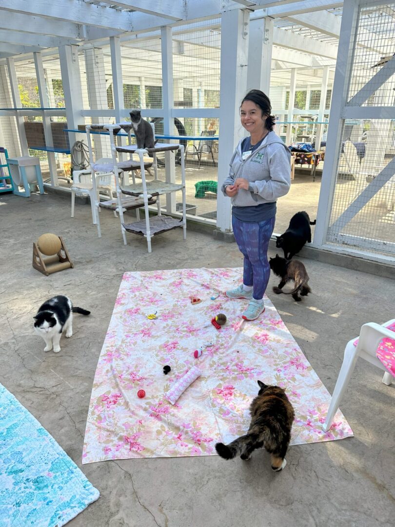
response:
{"label": "purple-blue patterned leggings worn by the standing woman", "polygon": [[275,216],[259,223],[240,221],[232,216],[234,238],[244,255],[243,284],[253,286],[255,300],[261,300],[268,287],[268,246],[274,222]]}

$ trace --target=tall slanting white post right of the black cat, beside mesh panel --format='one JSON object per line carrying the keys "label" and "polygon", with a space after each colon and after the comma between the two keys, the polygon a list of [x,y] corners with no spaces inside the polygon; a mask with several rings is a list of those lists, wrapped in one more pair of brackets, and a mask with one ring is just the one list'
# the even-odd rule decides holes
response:
{"label": "tall slanting white post right of the black cat, beside mesh panel", "polygon": [[356,40],[358,7],[358,0],[344,2],[338,57],[333,81],[327,147],[325,148],[325,163],[322,170],[320,198],[318,201],[317,225],[315,226],[313,239],[315,246],[323,246],[327,238],[341,149],[341,131],[343,124],[341,114],[343,106],[347,102],[353,50]]}

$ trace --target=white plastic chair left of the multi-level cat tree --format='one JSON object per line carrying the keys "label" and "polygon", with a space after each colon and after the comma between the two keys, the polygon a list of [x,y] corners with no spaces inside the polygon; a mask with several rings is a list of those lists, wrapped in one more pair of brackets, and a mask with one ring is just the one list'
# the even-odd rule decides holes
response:
{"label": "white plastic chair left of the multi-level cat tree", "polygon": [[[74,218],[75,193],[82,196],[89,196],[91,200],[92,221],[96,225],[96,200],[100,200],[100,195],[112,199],[112,179],[113,172],[100,173],[96,175],[96,185],[92,181],[92,172],[90,169],[75,170],[73,172],[73,184],[71,187],[71,217]],[[96,187],[96,190],[95,190]]]}

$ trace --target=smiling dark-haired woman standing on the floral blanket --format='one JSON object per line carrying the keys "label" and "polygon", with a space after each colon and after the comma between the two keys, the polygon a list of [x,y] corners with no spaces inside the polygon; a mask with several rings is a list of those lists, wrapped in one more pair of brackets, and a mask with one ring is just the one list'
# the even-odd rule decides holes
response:
{"label": "smiling dark-haired woman standing on the floral blanket", "polygon": [[274,229],[276,200],[291,185],[291,153],[273,132],[269,97],[251,90],[240,106],[241,124],[250,133],[233,153],[222,192],[232,200],[232,227],[244,255],[243,284],[225,292],[229,298],[250,300],[242,314],[255,320],[265,310],[263,295],[270,266],[268,245]]}

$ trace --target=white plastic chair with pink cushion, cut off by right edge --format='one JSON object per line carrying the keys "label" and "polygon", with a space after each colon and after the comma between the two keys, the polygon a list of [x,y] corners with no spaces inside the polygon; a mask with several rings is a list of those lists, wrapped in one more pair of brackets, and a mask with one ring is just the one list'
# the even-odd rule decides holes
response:
{"label": "white plastic chair with pink cushion, cut off by right edge", "polygon": [[332,424],[334,414],[338,411],[340,401],[347,390],[348,383],[357,363],[358,357],[362,357],[374,366],[384,370],[384,377],[382,382],[388,386],[392,383],[393,377],[388,372],[386,367],[380,362],[376,356],[376,350],[383,338],[389,337],[395,340],[395,331],[387,329],[387,327],[395,322],[395,318],[388,320],[382,326],[369,322],[361,327],[361,333],[357,346],[354,346],[354,340],[350,340],[344,349],[343,364],[340,368],[340,373],[336,385],[334,387],[331,403],[328,408],[327,418],[323,425],[323,430],[327,432]]}

